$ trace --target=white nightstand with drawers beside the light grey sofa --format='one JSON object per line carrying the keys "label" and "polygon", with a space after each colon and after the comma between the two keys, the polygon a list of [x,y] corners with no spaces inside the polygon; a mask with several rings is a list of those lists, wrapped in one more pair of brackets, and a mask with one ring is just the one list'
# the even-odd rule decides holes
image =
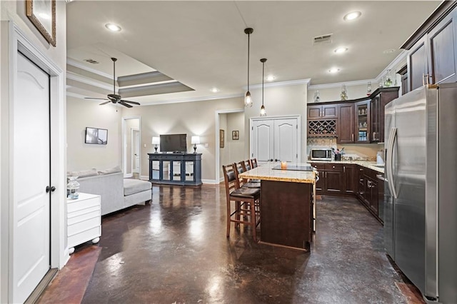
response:
{"label": "white nightstand with drawers beside the light grey sofa", "polygon": [[95,194],[79,193],[76,200],[66,199],[66,233],[69,253],[74,246],[92,240],[98,243],[101,236],[101,198]]}

